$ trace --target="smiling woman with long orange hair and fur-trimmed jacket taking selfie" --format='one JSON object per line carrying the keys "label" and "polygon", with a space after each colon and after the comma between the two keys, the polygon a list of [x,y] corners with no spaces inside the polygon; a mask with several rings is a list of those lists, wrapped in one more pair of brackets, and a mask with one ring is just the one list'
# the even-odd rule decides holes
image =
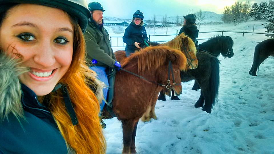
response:
{"label": "smiling woman with long orange hair and fur-trimmed jacket taking selfie", "polygon": [[0,153],[105,153],[88,19],[85,0],[0,0]]}

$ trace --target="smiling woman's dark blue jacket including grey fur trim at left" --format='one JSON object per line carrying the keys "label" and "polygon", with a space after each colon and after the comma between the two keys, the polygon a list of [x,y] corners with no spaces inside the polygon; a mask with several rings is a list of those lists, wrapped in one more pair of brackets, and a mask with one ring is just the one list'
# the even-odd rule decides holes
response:
{"label": "smiling woman's dark blue jacket including grey fur trim at left", "polygon": [[[0,110],[7,111],[7,115],[0,112],[0,154],[66,154],[65,140],[52,114],[31,89],[23,84],[20,88],[15,68],[14,60],[0,51]],[[23,110],[20,122],[10,112],[18,111],[15,108]]]}

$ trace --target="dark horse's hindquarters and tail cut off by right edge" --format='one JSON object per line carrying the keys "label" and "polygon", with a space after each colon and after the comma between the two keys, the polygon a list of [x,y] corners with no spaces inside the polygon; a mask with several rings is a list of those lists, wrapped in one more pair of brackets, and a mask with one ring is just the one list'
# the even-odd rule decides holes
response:
{"label": "dark horse's hindquarters and tail cut off by right edge", "polygon": [[253,64],[249,71],[252,76],[257,76],[260,64],[269,56],[274,56],[274,39],[267,39],[255,46]]}

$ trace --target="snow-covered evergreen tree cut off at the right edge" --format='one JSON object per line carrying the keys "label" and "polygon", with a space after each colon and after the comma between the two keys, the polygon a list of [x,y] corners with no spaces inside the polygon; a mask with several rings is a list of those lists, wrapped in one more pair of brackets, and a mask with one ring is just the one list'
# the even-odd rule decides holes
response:
{"label": "snow-covered evergreen tree cut off at the right edge", "polygon": [[[265,17],[267,22],[267,24],[264,26],[264,28],[267,29],[267,33],[274,33],[274,5],[268,6],[268,9],[263,17]],[[273,35],[266,36],[271,36],[273,38]]]}

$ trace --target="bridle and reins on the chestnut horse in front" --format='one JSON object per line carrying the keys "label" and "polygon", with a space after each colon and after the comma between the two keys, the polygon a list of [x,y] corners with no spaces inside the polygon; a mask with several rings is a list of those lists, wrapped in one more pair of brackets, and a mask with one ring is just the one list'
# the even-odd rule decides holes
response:
{"label": "bridle and reins on the chestnut horse in front", "polygon": [[[125,71],[125,72],[128,72],[128,73],[130,73],[130,74],[132,74],[132,75],[134,75],[134,76],[137,76],[137,77],[139,77],[139,78],[141,78],[141,79],[144,79],[144,80],[146,80],[146,81],[148,81],[148,82],[151,82],[151,83],[154,83],[154,84],[158,84],[159,86],[164,86],[164,87],[166,87],[167,89],[170,89],[170,88],[176,86],[176,83],[174,82],[174,74],[173,74],[172,63],[171,63],[170,60],[169,60],[169,62],[168,62],[168,80],[167,80],[167,85],[163,85],[163,84],[160,84],[160,83],[157,83],[157,82],[154,82],[154,81],[150,81],[150,80],[148,80],[148,79],[146,79],[146,78],[144,78],[144,77],[142,77],[142,76],[140,76],[140,75],[138,75],[138,74],[135,74],[135,73],[133,73],[133,72],[130,72],[130,71],[128,71],[128,70],[125,70],[124,68],[120,68],[120,69],[123,70],[123,71]],[[172,85],[170,84],[170,72],[171,72],[171,76],[172,76],[172,80],[173,80],[173,84],[172,84]]]}

